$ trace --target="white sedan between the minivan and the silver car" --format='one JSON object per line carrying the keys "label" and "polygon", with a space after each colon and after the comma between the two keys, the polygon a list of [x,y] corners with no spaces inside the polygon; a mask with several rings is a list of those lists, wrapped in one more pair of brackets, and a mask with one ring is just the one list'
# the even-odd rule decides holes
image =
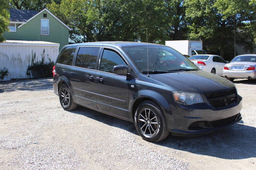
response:
{"label": "white sedan between the minivan and the silver car", "polygon": [[193,55],[188,58],[194,64],[196,64],[199,69],[206,72],[210,72],[217,75],[222,75],[223,67],[228,61],[223,60],[219,55]]}

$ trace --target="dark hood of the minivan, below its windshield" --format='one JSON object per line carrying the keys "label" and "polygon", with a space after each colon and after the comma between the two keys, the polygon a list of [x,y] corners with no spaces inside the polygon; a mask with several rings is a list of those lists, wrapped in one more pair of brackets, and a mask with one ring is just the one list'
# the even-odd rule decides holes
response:
{"label": "dark hood of the minivan, below its windshield", "polygon": [[226,78],[203,70],[153,74],[150,75],[150,77],[166,85],[170,85],[172,88],[176,87],[180,91],[187,92],[208,93],[235,87],[235,85]]}

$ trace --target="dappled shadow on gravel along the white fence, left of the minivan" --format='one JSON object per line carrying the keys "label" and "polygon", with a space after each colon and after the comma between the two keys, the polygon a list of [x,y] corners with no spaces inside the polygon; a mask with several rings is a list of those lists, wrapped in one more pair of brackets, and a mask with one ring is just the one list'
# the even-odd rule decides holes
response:
{"label": "dappled shadow on gravel along the white fence, left of the minivan", "polygon": [[52,78],[21,80],[0,83],[0,93],[17,90],[39,91],[52,90]]}

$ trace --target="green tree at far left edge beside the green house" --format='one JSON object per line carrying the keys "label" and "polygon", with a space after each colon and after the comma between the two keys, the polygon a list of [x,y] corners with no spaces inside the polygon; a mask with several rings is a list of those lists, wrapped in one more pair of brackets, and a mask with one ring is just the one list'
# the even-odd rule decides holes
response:
{"label": "green tree at far left edge beside the green house", "polygon": [[5,39],[3,34],[5,31],[8,31],[10,13],[8,11],[9,5],[6,0],[0,0],[0,42],[3,42]]}

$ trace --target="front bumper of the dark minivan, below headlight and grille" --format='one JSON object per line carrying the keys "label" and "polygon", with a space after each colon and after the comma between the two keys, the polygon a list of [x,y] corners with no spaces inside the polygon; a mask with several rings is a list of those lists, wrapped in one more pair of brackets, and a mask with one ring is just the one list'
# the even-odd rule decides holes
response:
{"label": "front bumper of the dark minivan, below headlight and grille", "polygon": [[[236,103],[224,107],[212,107],[206,103],[199,103],[190,106],[177,105],[177,109],[172,109],[171,115],[166,115],[167,129],[175,136],[197,136],[226,128],[242,119],[240,110],[242,109],[242,97],[238,95]],[[237,115],[237,116],[236,116]],[[227,123],[223,121],[229,120]],[[220,125],[212,125],[212,122],[221,122]],[[199,128],[191,128],[192,123],[199,123]]]}

